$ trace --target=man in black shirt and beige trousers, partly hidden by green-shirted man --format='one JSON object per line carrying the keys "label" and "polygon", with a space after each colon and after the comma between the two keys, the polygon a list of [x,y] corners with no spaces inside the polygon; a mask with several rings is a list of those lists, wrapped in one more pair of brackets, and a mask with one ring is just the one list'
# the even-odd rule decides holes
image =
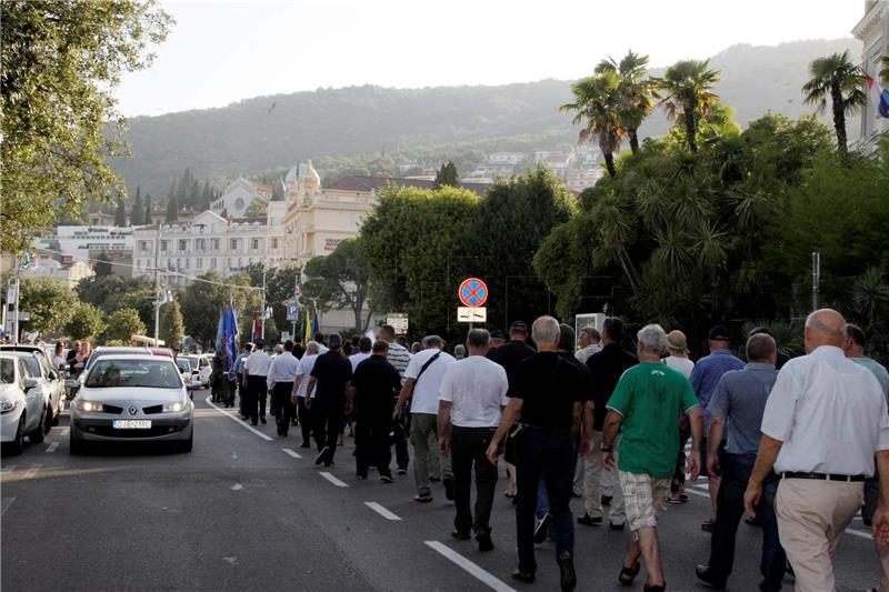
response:
{"label": "man in black shirt and beige trousers, partly hidden by green-shirted man", "polygon": [[[621,345],[623,340],[623,321],[617,317],[609,317],[602,323],[602,351],[596,352],[587,359],[587,368],[592,374],[596,384],[593,404],[596,412],[592,418],[592,450],[583,458],[583,499],[586,512],[578,519],[580,524],[588,526],[602,523],[602,425],[605,424],[605,405],[611,399],[620,377],[628,368],[639,363],[639,359]],[[619,438],[619,437],[618,437]],[[617,450],[619,441],[612,444]],[[623,495],[620,483],[613,480],[613,498],[610,501],[608,518],[611,529],[623,530],[627,514],[623,512]]]}

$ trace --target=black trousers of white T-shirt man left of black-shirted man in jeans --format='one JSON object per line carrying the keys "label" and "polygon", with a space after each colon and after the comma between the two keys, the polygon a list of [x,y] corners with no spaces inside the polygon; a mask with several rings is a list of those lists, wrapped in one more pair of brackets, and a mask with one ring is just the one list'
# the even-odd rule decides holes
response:
{"label": "black trousers of white T-shirt man left of black-shirted man in jeans", "polygon": [[[451,471],[453,472],[453,503],[457,532],[491,533],[491,506],[497,489],[497,465],[485,455],[497,428],[451,427]],[[469,509],[471,499],[472,465],[476,466],[476,518]]]}

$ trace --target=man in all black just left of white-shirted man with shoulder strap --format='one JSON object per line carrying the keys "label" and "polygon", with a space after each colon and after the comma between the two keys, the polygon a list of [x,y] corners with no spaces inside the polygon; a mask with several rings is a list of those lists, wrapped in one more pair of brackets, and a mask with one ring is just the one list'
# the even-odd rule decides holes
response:
{"label": "man in all black just left of white-shirted man with shoulder strap", "polygon": [[383,483],[392,482],[389,432],[392,429],[394,395],[401,390],[401,375],[386,360],[388,353],[389,343],[382,340],[373,343],[370,358],[360,362],[354,370],[346,404],[347,411],[354,408],[357,423],[356,476],[367,479],[368,466],[373,464]]}

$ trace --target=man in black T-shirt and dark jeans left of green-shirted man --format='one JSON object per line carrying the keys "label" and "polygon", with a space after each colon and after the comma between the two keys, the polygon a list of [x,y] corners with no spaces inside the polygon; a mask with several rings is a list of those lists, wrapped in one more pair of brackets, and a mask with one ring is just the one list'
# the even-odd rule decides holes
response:
{"label": "man in black T-shirt and dark jeans left of green-shirted man", "polygon": [[[570,592],[577,585],[575,528],[569,508],[576,455],[571,429],[579,423],[582,413],[583,381],[577,367],[557,353],[560,330],[556,319],[540,317],[535,321],[531,334],[538,353],[516,368],[509,389],[510,401],[488,446],[488,459],[497,462],[500,444],[521,413],[525,428],[516,466],[519,483],[516,508],[519,569],[512,572],[512,576],[522,582],[535,581],[535,514],[537,488],[542,476],[553,518],[561,589]],[[582,446],[583,453],[588,444]]]}

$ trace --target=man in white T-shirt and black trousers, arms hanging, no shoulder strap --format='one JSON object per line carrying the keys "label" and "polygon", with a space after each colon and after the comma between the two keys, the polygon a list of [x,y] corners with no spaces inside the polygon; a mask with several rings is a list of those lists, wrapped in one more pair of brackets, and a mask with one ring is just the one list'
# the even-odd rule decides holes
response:
{"label": "man in white T-shirt and black trousers, arms hanging, no shoulder strap", "polygon": [[[503,367],[486,358],[489,340],[485,329],[469,332],[469,357],[450,364],[438,397],[439,448],[442,453],[450,449],[453,468],[457,515],[451,535],[467,540],[470,529],[473,530],[480,551],[493,549],[489,520],[497,488],[497,465],[486,458],[486,451],[500,424],[509,390]],[[473,464],[478,490],[475,520],[469,505]]]}

